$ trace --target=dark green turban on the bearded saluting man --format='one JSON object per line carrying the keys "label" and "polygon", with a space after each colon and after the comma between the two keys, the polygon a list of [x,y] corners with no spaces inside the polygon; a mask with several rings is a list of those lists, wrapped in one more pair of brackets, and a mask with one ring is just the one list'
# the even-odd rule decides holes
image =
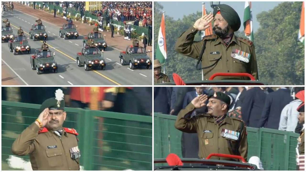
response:
{"label": "dark green turban on the bearded saluting man", "polygon": [[241,21],[237,12],[230,6],[226,4],[217,5],[214,8],[214,17],[220,11],[221,16],[226,20],[226,22],[230,25],[230,27],[236,32],[239,30]]}

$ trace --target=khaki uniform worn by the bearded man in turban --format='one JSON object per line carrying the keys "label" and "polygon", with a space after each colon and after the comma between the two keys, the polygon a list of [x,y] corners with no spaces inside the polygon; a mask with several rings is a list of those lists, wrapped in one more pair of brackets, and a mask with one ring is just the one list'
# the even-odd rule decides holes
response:
{"label": "khaki uniform worn by the bearded man in turban", "polygon": [[[202,41],[193,41],[197,30],[192,26],[185,31],[175,44],[177,52],[195,59],[199,58],[202,51],[203,42],[206,39],[206,48],[203,53],[202,67],[213,65],[208,69],[203,69],[203,77],[207,80],[214,73],[250,73],[258,79],[255,47],[251,41],[233,35],[230,44],[226,47],[221,38],[216,35],[205,36]],[[249,62],[244,62],[233,58],[232,52],[244,52],[250,54]],[[196,66],[196,64],[195,64]],[[215,80],[238,79],[249,80],[248,77],[215,77]]]}

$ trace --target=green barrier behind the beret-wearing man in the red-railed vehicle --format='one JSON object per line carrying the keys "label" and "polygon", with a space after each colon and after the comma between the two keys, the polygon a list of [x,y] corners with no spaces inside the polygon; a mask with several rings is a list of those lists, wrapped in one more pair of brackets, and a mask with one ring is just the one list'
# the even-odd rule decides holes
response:
{"label": "green barrier behind the beret-wearing man in the red-railed vehicle", "polygon": [[[169,153],[181,155],[181,131],[175,129],[177,116],[154,113],[154,158]],[[276,129],[247,127],[248,159],[258,156],[265,170],[296,170],[295,148],[299,134]]]}

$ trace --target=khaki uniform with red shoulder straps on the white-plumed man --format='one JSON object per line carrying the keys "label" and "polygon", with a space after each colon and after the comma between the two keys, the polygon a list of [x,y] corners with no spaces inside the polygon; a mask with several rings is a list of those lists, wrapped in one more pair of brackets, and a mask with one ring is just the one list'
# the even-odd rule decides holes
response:
{"label": "khaki uniform with red shoulder straps on the white-plumed man", "polygon": [[15,155],[29,154],[33,170],[80,170],[80,158],[73,160],[70,155],[70,148],[78,146],[76,135],[62,129],[59,138],[33,122],[14,141],[12,151]]}

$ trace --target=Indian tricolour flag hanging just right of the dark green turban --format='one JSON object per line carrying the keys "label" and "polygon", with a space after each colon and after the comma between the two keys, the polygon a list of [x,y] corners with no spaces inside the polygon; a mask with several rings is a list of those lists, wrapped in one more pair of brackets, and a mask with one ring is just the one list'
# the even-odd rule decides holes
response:
{"label": "Indian tricolour flag hanging just right of the dark green turban", "polygon": [[244,16],[243,16],[243,26],[245,36],[253,41],[253,18],[252,18],[252,9],[251,2],[245,2],[244,5]]}

